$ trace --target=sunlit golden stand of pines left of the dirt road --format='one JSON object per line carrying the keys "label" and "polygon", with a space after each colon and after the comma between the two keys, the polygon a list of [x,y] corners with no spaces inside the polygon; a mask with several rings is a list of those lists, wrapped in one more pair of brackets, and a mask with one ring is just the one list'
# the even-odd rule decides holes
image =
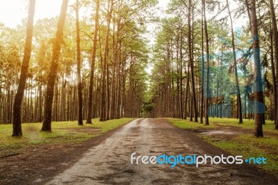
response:
{"label": "sunlit golden stand of pines left of the dirt road", "polygon": [[[76,1],[80,6],[78,3]],[[106,11],[100,7],[107,6],[108,1],[83,1],[81,6],[92,5],[95,13],[90,20],[79,20],[78,11],[75,11],[76,19],[72,15],[65,18],[67,1],[63,1],[60,18],[38,20],[33,31],[26,88],[19,106],[22,117],[17,118],[21,122],[43,122],[42,131],[51,131],[51,121],[80,120],[82,123],[87,118],[91,122],[92,118],[100,117],[101,108],[106,112],[106,120],[140,116],[147,90],[145,68],[148,58],[147,42],[142,38],[146,31],[142,20],[154,3],[110,1],[111,9]],[[106,24],[108,18],[111,19],[110,26]],[[6,69],[0,73],[1,123],[10,123],[14,112],[19,60],[23,54],[23,28],[24,25],[17,29],[0,25],[0,40],[3,41],[0,65]],[[101,70],[104,59],[105,72]],[[104,85],[101,74],[105,78]],[[10,81],[6,80],[8,78]],[[105,87],[105,106],[101,106],[102,87]]]}

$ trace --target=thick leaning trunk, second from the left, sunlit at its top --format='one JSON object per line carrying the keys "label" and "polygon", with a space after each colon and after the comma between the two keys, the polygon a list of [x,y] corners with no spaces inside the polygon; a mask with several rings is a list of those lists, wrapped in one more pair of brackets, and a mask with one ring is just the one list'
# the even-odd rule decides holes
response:
{"label": "thick leaning trunk, second from the left, sunlit at its top", "polygon": [[60,47],[63,40],[63,30],[65,26],[65,17],[67,15],[67,3],[69,0],[63,0],[60,17],[58,20],[56,38],[54,40],[54,47],[52,53],[52,61],[50,65],[49,75],[47,78],[47,95],[44,102],[44,120],[42,123],[42,131],[51,131],[51,114],[52,114],[52,103],[54,97],[54,85],[57,79],[58,73],[58,61],[60,56]]}

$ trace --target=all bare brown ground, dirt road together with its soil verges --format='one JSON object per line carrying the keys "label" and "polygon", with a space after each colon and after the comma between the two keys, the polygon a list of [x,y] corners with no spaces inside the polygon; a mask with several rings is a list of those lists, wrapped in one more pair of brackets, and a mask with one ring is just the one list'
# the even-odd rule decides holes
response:
{"label": "all bare brown ground, dirt road together with its soil verges", "polygon": [[[166,119],[138,119],[97,138],[72,145],[44,144],[22,148],[22,154],[0,159],[1,184],[275,184],[277,174],[256,165],[131,164],[136,156],[229,156],[211,145],[214,134],[231,140],[236,127],[179,129]],[[230,134],[233,133],[233,134]],[[204,137],[205,136],[205,137]],[[204,137],[204,138],[202,138]],[[220,139],[220,138],[217,138]],[[277,151],[277,150],[276,150]]]}

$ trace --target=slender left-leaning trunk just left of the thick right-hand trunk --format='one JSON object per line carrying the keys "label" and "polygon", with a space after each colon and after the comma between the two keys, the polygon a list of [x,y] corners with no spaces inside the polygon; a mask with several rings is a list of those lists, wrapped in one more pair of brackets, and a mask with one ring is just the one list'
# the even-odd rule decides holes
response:
{"label": "slender left-leaning trunk just left of the thick right-hand trunk", "polygon": [[240,98],[240,89],[239,89],[239,84],[238,84],[238,67],[237,67],[237,62],[236,62],[236,47],[234,44],[234,27],[233,27],[233,19],[231,18],[231,11],[229,8],[229,1],[226,0],[227,2],[227,8],[229,12],[229,17],[231,21],[231,45],[233,47],[233,56],[234,56],[234,75],[235,75],[235,81],[236,81],[236,103],[237,103],[237,116],[236,118],[239,119],[238,123],[242,124],[243,123],[243,113],[242,113],[242,108],[241,108],[241,98]]}

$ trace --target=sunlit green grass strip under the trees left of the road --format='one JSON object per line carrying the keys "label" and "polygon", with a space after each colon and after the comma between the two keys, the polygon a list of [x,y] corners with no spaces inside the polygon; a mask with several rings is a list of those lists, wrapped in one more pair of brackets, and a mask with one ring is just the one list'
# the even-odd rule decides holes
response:
{"label": "sunlit green grass strip under the trees left of the road", "polygon": [[23,136],[20,138],[11,137],[13,133],[12,124],[1,124],[0,151],[9,150],[13,152],[21,147],[47,143],[82,143],[111,129],[120,127],[131,120],[133,119],[122,118],[120,120],[99,122],[99,119],[93,119],[93,124],[84,124],[83,126],[78,126],[76,121],[52,122],[52,132],[40,131],[42,123],[28,123],[22,124]]}

